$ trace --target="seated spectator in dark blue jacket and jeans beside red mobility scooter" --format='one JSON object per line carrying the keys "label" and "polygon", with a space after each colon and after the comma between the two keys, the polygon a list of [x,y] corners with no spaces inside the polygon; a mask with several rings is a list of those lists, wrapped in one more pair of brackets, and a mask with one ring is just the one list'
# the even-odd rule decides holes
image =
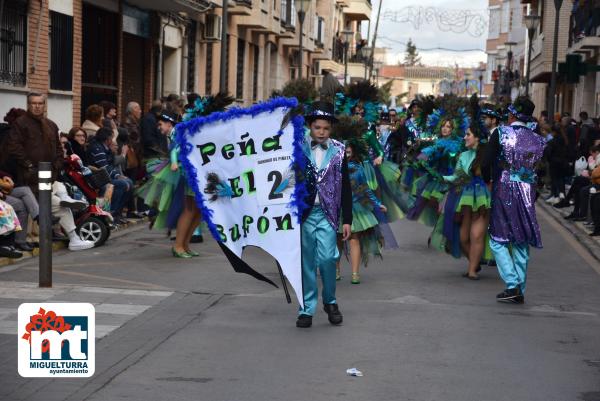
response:
{"label": "seated spectator in dark blue jacket and jeans beside red mobility scooter", "polygon": [[124,224],[127,221],[123,219],[123,207],[129,201],[133,193],[133,181],[128,177],[121,175],[120,170],[115,168],[115,155],[111,150],[112,130],[102,127],[96,132],[88,149],[88,158],[90,165],[96,168],[106,170],[114,186],[110,208],[116,224]]}

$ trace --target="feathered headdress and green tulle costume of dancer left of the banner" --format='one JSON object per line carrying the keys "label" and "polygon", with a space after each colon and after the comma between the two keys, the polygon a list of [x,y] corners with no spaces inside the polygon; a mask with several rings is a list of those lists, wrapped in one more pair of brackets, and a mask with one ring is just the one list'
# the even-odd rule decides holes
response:
{"label": "feathered headdress and green tulle costume of dancer left of the banner", "polygon": [[[223,111],[233,102],[233,98],[219,93],[215,96],[197,97],[193,107],[185,110],[183,121],[196,117],[207,116],[217,111]],[[179,145],[175,141],[177,127],[169,135],[169,159],[158,160],[149,170],[151,178],[138,190],[138,196],[144,203],[157,210],[152,228],[174,229],[181,215],[186,196],[194,196],[187,185],[183,168],[179,163]],[[178,164],[176,171],[171,170],[171,164]]]}

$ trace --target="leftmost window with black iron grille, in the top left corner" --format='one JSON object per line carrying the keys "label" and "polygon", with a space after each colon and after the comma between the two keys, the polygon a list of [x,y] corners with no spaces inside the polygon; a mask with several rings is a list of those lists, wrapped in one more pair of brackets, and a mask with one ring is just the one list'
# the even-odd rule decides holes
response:
{"label": "leftmost window with black iron grille, in the top left corner", "polygon": [[25,86],[27,75],[27,2],[2,3],[0,82]]}

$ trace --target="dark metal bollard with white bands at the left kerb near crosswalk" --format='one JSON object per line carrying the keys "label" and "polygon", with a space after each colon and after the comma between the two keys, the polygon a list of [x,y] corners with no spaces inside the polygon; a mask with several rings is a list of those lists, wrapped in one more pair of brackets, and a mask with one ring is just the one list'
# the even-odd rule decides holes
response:
{"label": "dark metal bollard with white bands at the left kerb near crosswalk", "polygon": [[52,287],[52,163],[40,162],[38,170],[40,204],[39,286]]}

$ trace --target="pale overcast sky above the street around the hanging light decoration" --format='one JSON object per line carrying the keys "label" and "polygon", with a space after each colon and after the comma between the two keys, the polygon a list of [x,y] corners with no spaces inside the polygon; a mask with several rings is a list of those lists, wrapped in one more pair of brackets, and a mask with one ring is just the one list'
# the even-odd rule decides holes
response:
{"label": "pale overcast sky above the street around the hanging light decoration", "polygon": [[[373,30],[377,19],[377,9],[380,0],[372,0],[373,14],[371,21],[371,38],[373,39]],[[409,38],[420,48],[443,47],[448,49],[485,49],[487,38],[487,27],[483,35],[476,37],[467,32],[454,33],[445,32],[439,29],[436,22],[424,22],[419,29],[415,29],[411,23],[397,23],[384,18],[386,11],[401,11],[406,7],[436,7],[437,9],[447,10],[472,10],[485,17],[487,23],[487,0],[383,0],[381,8],[381,19],[379,21],[379,32],[377,34],[377,47],[386,47],[388,49],[388,60],[390,64],[397,64],[398,60],[404,60],[405,43]],[[364,28],[366,30],[366,28]],[[475,29],[473,29],[475,31]],[[448,51],[425,51],[420,50],[423,64],[438,66],[454,66],[458,63],[460,66],[476,66],[480,61],[486,60],[483,52],[448,52]]]}

